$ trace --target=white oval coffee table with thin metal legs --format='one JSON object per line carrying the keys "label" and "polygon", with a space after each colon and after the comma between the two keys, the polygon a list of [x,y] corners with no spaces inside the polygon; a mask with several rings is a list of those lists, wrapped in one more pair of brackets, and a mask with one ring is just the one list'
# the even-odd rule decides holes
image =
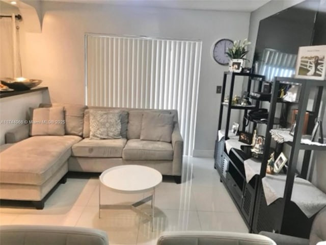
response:
{"label": "white oval coffee table with thin metal legs", "polygon": [[[152,221],[154,218],[154,201],[155,188],[162,182],[162,175],[154,168],[140,165],[122,165],[106,169],[100,175],[99,185],[99,218],[101,217],[101,209],[121,209],[131,208],[133,211],[145,216]],[[101,204],[101,185],[108,189],[125,193],[142,193],[151,191],[148,197],[133,203],[131,205],[102,205]],[[152,214],[149,215],[137,207],[151,201]]]}

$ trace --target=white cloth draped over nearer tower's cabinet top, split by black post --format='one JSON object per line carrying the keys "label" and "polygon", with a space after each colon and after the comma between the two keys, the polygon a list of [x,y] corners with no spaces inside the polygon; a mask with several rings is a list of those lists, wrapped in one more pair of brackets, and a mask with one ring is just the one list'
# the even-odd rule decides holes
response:
{"label": "white cloth draped over nearer tower's cabinet top, split by black post", "polygon": [[[283,198],[285,181],[286,175],[266,175],[262,178],[267,205]],[[295,177],[291,201],[310,218],[326,206],[326,194],[308,180]]]}

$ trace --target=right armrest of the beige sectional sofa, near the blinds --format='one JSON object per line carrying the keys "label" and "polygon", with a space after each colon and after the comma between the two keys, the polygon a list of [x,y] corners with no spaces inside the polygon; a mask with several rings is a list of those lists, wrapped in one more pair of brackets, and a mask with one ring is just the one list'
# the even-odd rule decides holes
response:
{"label": "right armrest of the beige sectional sofa, near the blinds", "polygon": [[182,155],[183,139],[180,133],[179,124],[176,122],[172,131],[172,149],[173,149],[173,169],[174,176],[181,176],[182,172]]}

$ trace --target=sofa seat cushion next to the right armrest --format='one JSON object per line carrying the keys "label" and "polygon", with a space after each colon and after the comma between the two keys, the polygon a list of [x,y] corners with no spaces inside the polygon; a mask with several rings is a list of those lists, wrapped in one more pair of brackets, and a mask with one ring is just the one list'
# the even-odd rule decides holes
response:
{"label": "sofa seat cushion next to the right armrest", "polygon": [[173,160],[172,144],[129,139],[123,149],[122,158],[124,160]]}

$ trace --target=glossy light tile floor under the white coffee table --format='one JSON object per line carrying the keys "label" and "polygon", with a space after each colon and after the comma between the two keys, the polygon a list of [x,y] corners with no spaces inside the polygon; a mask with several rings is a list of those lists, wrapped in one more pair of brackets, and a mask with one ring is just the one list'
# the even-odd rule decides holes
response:
{"label": "glossy light tile floor under the white coffee table", "polygon": [[[69,175],[45,202],[43,210],[28,203],[2,203],[0,224],[93,227],[107,232],[110,244],[156,244],[164,231],[248,232],[220,177],[213,159],[184,158],[182,184],[164,178],[155,193],[154,231],[151,222],[132,210],[102,210],[98,218],[96,175]],[[132,203],[144,194],[101,191],[101,203]],[[102,201],[103,200],[103,201]],[[150,204],[143,205],[150,211]]]}

